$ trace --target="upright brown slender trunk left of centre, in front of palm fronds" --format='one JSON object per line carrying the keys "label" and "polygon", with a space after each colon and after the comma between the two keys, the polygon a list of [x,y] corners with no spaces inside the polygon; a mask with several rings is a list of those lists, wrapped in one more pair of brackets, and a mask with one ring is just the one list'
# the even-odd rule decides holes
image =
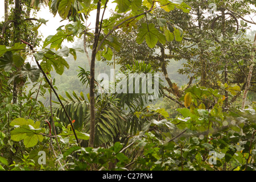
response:
{"label": "upright brown slender trunk left of centre, in front of palm fronds", "polygon": [[94,34],[94,43],[93,43],[93,50],[92,50],[92,59],[90,61],[90,138],[89,138],[89,147],[94,146],[94,135],[95,135],[95,59],[97,53],[97,46],[98,46],[98,36],[100,34],[99,31],[99,24],[100,24],[100,10],[101,10],[101,1],[98,1],[97,4],[97,16],[96,16],[96,28]]}

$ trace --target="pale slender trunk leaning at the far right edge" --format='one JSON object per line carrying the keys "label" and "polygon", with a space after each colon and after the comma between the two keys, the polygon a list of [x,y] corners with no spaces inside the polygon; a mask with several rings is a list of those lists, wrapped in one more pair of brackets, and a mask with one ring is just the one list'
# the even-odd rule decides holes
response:
{"label": "pale slender trunk leaning at the far right edge", "polygon": [[255,36],[254,36],[254,43],[253,43],[253,53],[252,53],[252,56],[251,56],[251,61],[253,62],[251,65],[250,65],[250,68],[249,68],[249,74],[248,74],[248,77],[247,77],[247,83],[246,83],[246,86],[245,86],[245,91],[243,92],[243,99],[242,99],[242,110],[245,109],[245,102],[246,102],[246,97],[247,97],[247,94],[248,94],[248,91],[249,91],[249,88],[250,88],[250,84],[251,84],[251,76],[253,75],[253,67],[254,67],[254,59],[255,59],[255,52],[256,52],[256,33],[255,33]]}

